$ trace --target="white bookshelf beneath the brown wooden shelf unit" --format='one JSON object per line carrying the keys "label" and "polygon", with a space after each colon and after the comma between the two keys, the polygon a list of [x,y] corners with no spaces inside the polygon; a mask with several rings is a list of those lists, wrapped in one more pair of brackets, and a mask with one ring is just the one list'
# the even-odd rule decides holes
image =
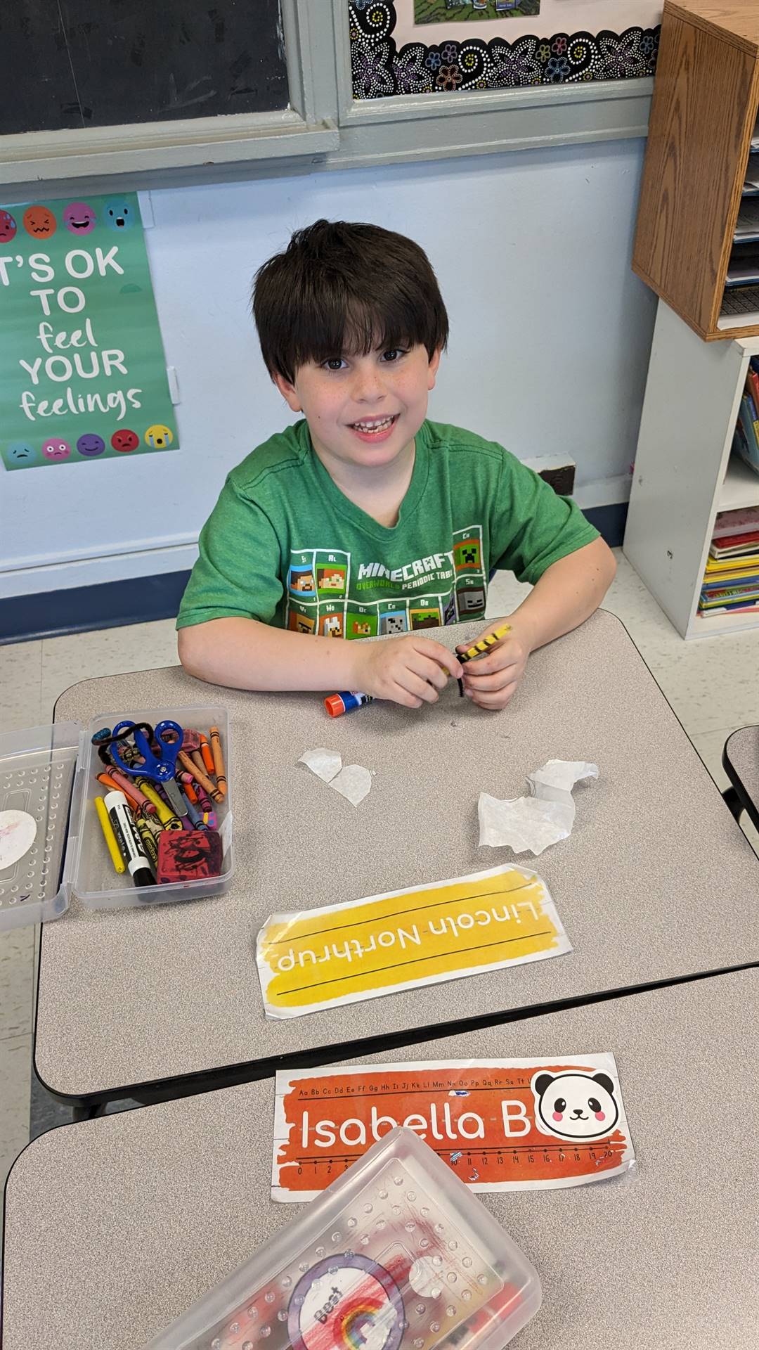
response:
{"label": "white bookshelf beneath the brown wooden shelf unit", "polygon": [[682,637],[759,628],[759,614],[697,616],[718,510],[759,506],[759,474],[731,458],[759,331],[704,342],[659,300],[624,554]]}

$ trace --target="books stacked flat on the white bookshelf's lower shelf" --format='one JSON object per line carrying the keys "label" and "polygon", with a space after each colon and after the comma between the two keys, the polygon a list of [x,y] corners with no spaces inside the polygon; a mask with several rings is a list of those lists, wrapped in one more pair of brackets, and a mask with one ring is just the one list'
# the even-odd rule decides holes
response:
{"label": "books stacked flat on the white bookshelf's lower shelf", "polygon": [[759,613],[759,506],[720,512],[698,614]]}

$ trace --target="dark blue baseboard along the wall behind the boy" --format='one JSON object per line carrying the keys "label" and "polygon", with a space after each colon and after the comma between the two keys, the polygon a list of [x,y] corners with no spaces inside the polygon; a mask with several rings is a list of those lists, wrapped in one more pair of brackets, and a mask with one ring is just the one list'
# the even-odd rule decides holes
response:
{"label": "dark blue baseboard along the wall behind the boy", "polygon": [[[627,502],[593,506],[583,514],[612,548],[621,544]],[[35,637],[59,637],[62,633],[86,633],[93,628],[173,618],[188,578],[186,571],[162,572],[136,580],[0,599],[0,643],[26,643]]]}

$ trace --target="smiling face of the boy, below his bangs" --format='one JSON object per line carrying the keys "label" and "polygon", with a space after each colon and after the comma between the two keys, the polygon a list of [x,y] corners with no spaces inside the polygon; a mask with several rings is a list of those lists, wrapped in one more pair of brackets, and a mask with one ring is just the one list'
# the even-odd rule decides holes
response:
{"label": "smiling face of the boy, below his bangs", "polygon": [[[377,347],[298,366],[294,382],[274,374],[290,409],[303,412],[313,448],[332,473],[343,466],[386,468],[402,460],[427,416],[440,352]],[[350,471],[350,470],[348,470]]]}

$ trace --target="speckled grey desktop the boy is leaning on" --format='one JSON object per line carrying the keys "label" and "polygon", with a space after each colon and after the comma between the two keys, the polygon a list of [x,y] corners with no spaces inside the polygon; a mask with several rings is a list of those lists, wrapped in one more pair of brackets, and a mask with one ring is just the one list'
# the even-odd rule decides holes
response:
{"label": "speckled grey desktop the boy is leaning on", "polygon": [[[431,632],[454,647],[477,629]],[[452,684],[419,711],[373,703],[332,721],[319,694],[209,691],[181,668],[85,680],[55,714],[88,722],[208,701],[226,702],[234,734],[232,890],[143,910],[73,905],[45,926],[35,1066],[59,1095],[176,1096],[271,1073],[285,1057],[346,1058],[473,1015],[759,960],[756,856],[610,614],[536,652],[498,714]],[[297,765],[319,745],[375,770],[358,809]],[[519,796],[551,757],[601,774],[577,790],[571,837],[538,860],[571,953],[348,1010],[263,1017],[254,942],[270,913],[513,860],[478,846],[478,794]],[[170,1081],[181,1075],[200,1077]]]}

